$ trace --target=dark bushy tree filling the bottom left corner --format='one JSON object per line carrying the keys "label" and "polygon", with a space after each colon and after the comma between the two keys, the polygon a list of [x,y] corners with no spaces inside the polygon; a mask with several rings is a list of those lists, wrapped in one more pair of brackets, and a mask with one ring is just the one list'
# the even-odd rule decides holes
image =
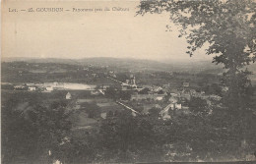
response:
{"label": "dark bushy tree filling the bottom left corner", "polygon": [[[15,99],[18,98],[18,99]],[[38,104],[13,97],[2,107],[2,162],[52,163],[70,136],[69,111],[62,103]],[[49,150],[51,155],[49,155]]]}

